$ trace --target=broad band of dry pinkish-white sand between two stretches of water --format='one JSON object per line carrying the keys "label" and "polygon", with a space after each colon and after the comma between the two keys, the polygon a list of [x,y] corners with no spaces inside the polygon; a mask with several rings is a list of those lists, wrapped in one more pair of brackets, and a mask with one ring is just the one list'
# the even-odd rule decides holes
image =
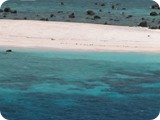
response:
{"label": "broad band of dry pinkish-white sand between two stretches of water", "polygon": [[0,47],[160,53],[160,30],[84,23],[0,20]]}

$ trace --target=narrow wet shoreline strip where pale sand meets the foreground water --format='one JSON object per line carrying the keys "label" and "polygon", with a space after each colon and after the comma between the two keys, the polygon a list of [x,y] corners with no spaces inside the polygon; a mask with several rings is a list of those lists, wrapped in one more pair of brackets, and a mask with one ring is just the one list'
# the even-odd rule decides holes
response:
{"label": "narrow wet shoreline strip where pale sand meets the foreground water", "polygon": [[160,51],[126,51],[126,50],[86,50],[86,49],[61,49],[61,48],[47,48],[47,47],[16,47],[16,46],[1,46],[0,51],[6,52],[77,52],[77,53],[138,53],[138,54],[160,54]]}

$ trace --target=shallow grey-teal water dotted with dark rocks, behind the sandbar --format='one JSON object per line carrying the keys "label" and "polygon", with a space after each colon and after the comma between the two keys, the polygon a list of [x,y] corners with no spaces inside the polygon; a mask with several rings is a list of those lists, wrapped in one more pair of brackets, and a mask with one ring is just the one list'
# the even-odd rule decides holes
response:
{"label": "shallow grey-teal water dotted with dark rocks, behind the sandbar", "polygon": [[[64,5],[61,5],[61,2]],[[103,3],[105,6],[101,6]],[[49,21],[97,24],[107,22],[109,25],[137,26],[144,18],[148,22],[148,26],[160,26],[160,16],[150,16],[150,12],[160,12],[151,9],[153,4],[155,2],[151,0],[9,0],[2,5],[2,9],[9,6],[18,12],[17,14],[0,13],[0,19],[47,19]],[[115,5],[114,10],[112,10],[112,5]],[[94,11],[95,15],[101,18],[94,19],[95,15],[86,14],[87,10]],[[74,13],[74,18],[69,18],[71,13]],[[52,17],[50,17],[51,15]],[[128,15],[132,15],[132,17],[127,18]]]}

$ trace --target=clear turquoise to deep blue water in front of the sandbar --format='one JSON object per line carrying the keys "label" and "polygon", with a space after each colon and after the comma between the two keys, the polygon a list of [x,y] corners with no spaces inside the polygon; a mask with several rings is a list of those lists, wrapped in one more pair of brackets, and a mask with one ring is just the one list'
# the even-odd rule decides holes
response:
{"label": "clear turquoise to deep blue water in front of the sandbar", "polygon": [[9,120],[151,120],[160,54],[0,52],[0,111]]}

